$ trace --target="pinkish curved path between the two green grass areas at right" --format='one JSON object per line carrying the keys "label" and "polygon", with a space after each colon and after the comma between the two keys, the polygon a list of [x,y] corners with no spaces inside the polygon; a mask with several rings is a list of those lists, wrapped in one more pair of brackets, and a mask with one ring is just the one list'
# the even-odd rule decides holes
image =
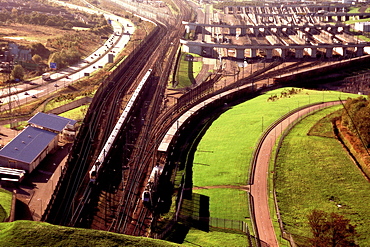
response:
{"label": "pinkish curved path between the two green grass areas at right", "polygon": [[260,150],[256,153],[256,164],[254,171],[254,180],[250,185],[250,193],[254,201],[254,215],[256,220],[256,228],[258,230],[259,239],[261,246],[279,246],[272,220],[270,216],[270,210],[268,205],[268,167],[272,148],[274,147],[275,141],[281,135],[281,133],[295,120],[300,117],[318,109],[339,104],[339,101],[325,102],[314,106],[309,106],[300,111],[294,112],[288,117],[282,119],[274,128],[272,128],[261,140]]}

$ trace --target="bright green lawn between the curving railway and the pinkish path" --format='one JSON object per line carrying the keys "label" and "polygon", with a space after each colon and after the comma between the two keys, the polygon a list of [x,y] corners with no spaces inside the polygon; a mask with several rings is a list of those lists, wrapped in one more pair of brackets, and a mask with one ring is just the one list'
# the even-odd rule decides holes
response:
{"label": "bright green lawn between the curving railway and the pinkish path", "polygon": [[[193,192],[209,197],[210,217],[248,221],[247,193],[242,186],[247,185],[254,147],[271,123],[290,110],[309,103],[353,97],[340,92],[302,90],[290,97],[268,101],[269,97],[279,96],[283,90],[268,92],[233,107],[214,121],[202,137],[193,162],[193,186],[199,189]],[[210,246],[207,240],[197,236],[198,232],[191,229],[184,244],[194,242],[195,237],[197,244]],[[214,233],[211,231],[202,236],[208,239]],[[230,246],[228,240],[220,243]],[[233,244],[238,246],[238,243]]]}

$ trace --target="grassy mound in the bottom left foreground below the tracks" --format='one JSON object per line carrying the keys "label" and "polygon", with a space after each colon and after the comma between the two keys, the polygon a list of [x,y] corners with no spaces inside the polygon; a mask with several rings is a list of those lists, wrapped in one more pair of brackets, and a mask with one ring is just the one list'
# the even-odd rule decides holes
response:
{"label": "grassy mound in the bottom left foreground below the tracks", "polygon": [[178,246],[163,240],[43,222],[0,223],[1,246]]}

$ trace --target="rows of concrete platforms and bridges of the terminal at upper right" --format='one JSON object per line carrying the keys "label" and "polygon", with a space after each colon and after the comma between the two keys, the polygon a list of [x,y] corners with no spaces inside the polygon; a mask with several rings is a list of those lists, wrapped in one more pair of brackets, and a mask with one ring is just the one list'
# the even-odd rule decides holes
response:
{"label": "rows of concrete platforms and bridges of the terminal at upper right", "polygon": [[190,38],[181,43],[184,51],[214,58],[362,56],[370,44],[360,42],[341,20],[368,14],[344,11],[343,6],[317,5],[225,7],[223,13],[206,14],[203,22],[183,22]]}

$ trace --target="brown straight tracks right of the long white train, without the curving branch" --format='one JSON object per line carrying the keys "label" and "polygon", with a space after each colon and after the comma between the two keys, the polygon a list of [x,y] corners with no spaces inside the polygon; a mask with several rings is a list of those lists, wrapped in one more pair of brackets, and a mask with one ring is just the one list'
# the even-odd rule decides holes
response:
{"label": "brown straight tracks right of the long white train, without the curving branch", "polygon": [[[177,31],[169,34],[169,38],[165,41],[167,42],[167,47],[172,47],[168,54],[169,60],[173,59],[177,52],[175,47],[177,47],[179,43],[179,32],[181,33],[180,20],[176,24]],[[161,52],[165,54],[163,50]],[[147,228],[151,223],[151,219],[155,217],[153,216],[152,210],[143,206],[141,194],[145,187],[147,173],[150,173],[151,168],[157,163],[156,147],[159,145],[157,135],[160,131],[153,128],[153,126],[160,113],[159,110],[162,105],[163,94],[167,86],[167,78],[169,77],[171,65],[164,63],[162,68],[163,70],[161,70],[159,76],[158,86],[155,89],[153,88],[153,98],[148,105],[148,111],[145,115],[145,125],[135,145],[137,148],[134,149],[131,155],[133,159],[130,160],[130,164],[128,165],[130,169],[134,167],[134,171],[130,172],[127,178],[125,193],[121,198],[115,218],[108,229],[110,231],[135,236],[147,235]],[[162,128],[163,127],[165,126],[162,126]]]}

